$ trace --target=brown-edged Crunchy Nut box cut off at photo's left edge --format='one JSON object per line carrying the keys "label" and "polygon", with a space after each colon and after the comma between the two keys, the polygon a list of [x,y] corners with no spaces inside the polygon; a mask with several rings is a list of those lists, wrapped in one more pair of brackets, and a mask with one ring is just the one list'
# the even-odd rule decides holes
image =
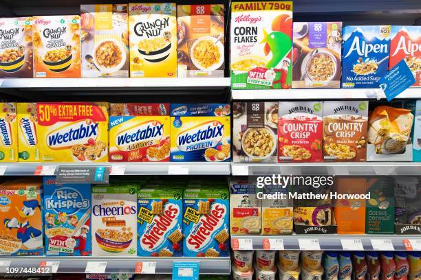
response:
{"label": "brown-edged Crunchy Nut box cut off at photo's left edge", "polygon": [[32,78],[32,18],[0,19],[0,78]]}

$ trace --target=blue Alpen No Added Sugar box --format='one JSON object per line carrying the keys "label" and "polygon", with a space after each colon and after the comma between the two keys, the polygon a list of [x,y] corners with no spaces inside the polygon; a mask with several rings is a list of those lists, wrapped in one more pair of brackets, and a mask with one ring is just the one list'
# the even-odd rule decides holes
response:
{"label": "blue Alpen No Added Sugar box", "polygon": [[390,25],[343,28],[342,87],[378,88],[389,69]]}

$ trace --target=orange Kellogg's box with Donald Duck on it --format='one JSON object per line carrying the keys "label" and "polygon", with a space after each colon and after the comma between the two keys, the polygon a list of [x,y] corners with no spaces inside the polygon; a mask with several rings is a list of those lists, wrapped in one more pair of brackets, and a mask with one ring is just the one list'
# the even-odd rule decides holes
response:
{"label": "orange Kellogg's box with Donald Duck on it", "polygon": [[0,185],[0,255],[43,255],[41,182]]}

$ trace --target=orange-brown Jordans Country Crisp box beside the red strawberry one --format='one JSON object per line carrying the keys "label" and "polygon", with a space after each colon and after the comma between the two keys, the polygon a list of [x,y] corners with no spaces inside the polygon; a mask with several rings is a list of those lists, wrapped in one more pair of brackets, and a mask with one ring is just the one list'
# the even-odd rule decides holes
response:
{"label": "orange-brown Jordans Country Crisp box beside the red strawberry one", "polygon": [[365,161],[367,101],[323,102],[324,161]]}

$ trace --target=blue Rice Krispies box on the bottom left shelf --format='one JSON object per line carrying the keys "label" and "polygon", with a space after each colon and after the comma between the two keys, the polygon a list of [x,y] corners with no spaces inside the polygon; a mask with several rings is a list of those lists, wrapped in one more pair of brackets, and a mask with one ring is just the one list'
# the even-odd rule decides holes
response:
{"label": "blue Rice Krispies box on the bottom left shelf", "polygon": [[91,185],[44,177],[45,254],[91,255]]}

